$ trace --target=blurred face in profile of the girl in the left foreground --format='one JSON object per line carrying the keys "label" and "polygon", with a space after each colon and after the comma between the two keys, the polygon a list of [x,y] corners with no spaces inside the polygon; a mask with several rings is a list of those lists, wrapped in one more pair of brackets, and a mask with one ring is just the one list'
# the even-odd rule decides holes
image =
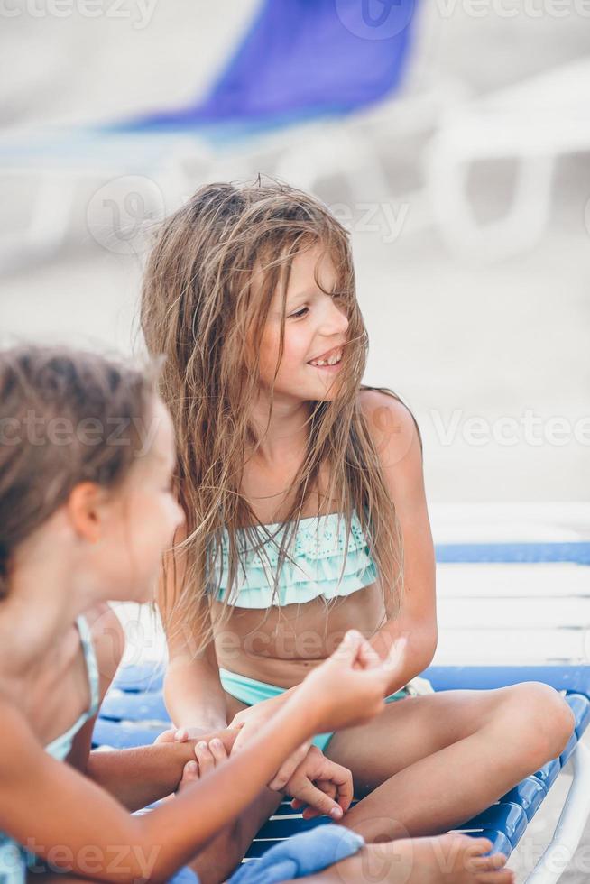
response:
{"label": "blurred face in profile of the girl in the left foreground", "polygon": [[151,602],[161,571],[161,554],[171,547],[184,512],[174,497],[174,429],[160,399],[144,428],[147,451],[138,456],[104,522],[101,579],[112,601]]}

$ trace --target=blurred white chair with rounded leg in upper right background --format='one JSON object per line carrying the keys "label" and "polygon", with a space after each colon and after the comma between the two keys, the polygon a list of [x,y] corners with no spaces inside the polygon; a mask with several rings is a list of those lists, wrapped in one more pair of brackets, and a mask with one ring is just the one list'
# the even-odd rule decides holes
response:
{"label": "blurred white chair with rounded leg in upper right background", "polygon": [[[590,152],[590,58],[456,106],[432,138],[426,162],[440,235],[454,252],[484,260],[529,249],[549,223],[555,163],[577,152]],[[468,176],[475,163],[493,161],[517,163],[512,206],[481,224]]]}

